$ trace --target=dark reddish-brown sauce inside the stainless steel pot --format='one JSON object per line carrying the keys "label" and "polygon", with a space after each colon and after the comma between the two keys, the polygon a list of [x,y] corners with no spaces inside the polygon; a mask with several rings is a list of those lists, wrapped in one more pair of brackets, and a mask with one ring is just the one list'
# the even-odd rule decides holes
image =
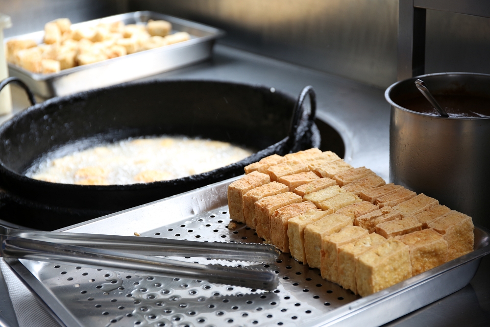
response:
{"label": "dark reddish-brown sauce inside the stainless steel pot", "polygon": [[[490,98],[468,95],[436,95],[434,96],[449,117],[489,117]],[[406,109],[439,116],[439,113],[422,95],[396,101]]]}

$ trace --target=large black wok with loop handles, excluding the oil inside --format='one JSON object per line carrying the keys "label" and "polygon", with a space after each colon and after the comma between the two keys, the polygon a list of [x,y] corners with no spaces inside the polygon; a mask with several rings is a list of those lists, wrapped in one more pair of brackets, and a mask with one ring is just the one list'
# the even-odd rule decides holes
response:
{"label": "large black wok with loop handles, excluding the oil inside", "polygon": [[[12,77],[0,86],[11,81],[22,83]],[[308,94],[309,116],[303,115]],[[319,147],[315,108],[311,87],[296,100],[263,86],[214,81],[129,83],[33,103],[0,127],[0,188],[8,201],[30,210],[30,222],[17,223],[42,229],[72,225],[241,175],[246,165],[273,153]],[[257,152],[207,173],[146,184],[84,186],[24,175],[47,152],[74,141],[92,147],[162,134],[226,141]]]}

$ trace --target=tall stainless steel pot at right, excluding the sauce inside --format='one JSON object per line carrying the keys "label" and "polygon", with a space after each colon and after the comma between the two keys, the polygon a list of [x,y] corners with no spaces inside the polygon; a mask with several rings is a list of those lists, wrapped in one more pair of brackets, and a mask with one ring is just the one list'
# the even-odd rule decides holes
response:
{"label": "tall stainless steel pot at right, excluding the sauce inside", "polygon": [[441,118],[401,107],[398,103],[403,99],[421,96],[417,78],[434,95],[490,99],[486,74],[429,74],[390,86],[385,92],[391,104],[390,180],[489,226],[490,117]]}

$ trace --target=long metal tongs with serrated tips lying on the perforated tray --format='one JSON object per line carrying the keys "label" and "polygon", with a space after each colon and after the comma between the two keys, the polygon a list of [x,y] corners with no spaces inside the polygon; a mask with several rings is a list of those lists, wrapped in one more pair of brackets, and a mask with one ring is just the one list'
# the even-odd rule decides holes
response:
{"label": "long metal tongs with serrated tips lying on the perforated tray", "polygon": [[155,257],[190,256],[272,262],[279,252],[270,245],[32,231],[1,225],[0,241],[0,253],[4,258],[71,263],[133,274],[196,278],[264,290],[275,289],[278,283],[275,273],[271,271]]}

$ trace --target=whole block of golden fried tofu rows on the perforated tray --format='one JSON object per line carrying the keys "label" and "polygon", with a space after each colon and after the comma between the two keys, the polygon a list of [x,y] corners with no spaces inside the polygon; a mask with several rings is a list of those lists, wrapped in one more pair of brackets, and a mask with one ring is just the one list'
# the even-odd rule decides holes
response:
{"label": "whole block of golden fried tofu rows on the perforated tray", "polygon": [[471,217],[331,151],[246,166],[228,187],[228,206],[232,220],[361,296],[473,251]]}

